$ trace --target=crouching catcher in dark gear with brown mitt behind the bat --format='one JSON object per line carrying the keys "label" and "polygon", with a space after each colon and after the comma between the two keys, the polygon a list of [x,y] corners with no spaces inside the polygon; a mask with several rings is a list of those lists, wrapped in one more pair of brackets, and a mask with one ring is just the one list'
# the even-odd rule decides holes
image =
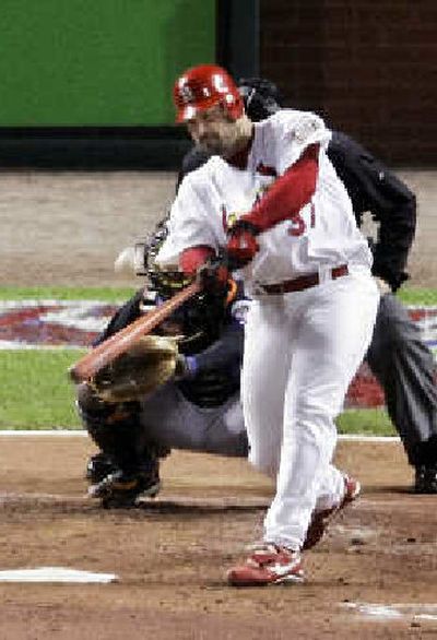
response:
{"label": "crouching catcher in dark gear with brown mitt behind the bat", "polygon": [[[182,273],[155,268],[166,233],[163,221],[145,245],[137,246],[150,288],[116,312],[95,345],[188,284]],[[239,400],[245,305],[234,281],[209,287],[154,335],[79,384],[79,414],[101,450],[87,464],[88,493],[104,507],[156,496],[160,459],[172,448],[247,455]]]}

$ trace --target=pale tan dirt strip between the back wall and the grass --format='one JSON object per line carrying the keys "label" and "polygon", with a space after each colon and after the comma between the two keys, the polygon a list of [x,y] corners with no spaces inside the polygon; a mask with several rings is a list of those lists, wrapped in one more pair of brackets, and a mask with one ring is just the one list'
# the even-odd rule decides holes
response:
{"label": "pale tan dirt strip between the back wall and the grass", "polygon": [[[436,171],[400,176],[417,194],[411,284],[436,284]],[[150,233],[175,194],[172,173],[0,173],[0,285],[139,286],[114,260]],[[371,224],[365,232],[373,232]]]}

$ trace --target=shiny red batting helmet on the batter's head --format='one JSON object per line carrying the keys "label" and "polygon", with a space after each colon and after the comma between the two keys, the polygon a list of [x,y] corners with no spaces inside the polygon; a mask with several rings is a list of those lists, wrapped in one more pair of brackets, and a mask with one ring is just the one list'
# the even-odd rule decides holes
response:
{"label": "shiny red batting helmet on the batter's head", "polygon": [[190,120],[199,111],[223,105],[233,120],[244,114],[237,85],[222,67],[199,64],[188,69],[175,83],[176,121]]}

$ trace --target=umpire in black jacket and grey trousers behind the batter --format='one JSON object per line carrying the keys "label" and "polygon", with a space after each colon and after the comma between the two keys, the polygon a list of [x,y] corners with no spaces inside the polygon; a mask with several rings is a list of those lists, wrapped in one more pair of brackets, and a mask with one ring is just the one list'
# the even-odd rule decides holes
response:
{"label": "umpire in black jacket and grey trousers behind the batter", "polygon": [[[281,108],[277,87],[263,79],[239,82],[246,111],[252,121]],[[379,223],[371,241],[373,273],[381,289],[367,363],[381,384],[389,416],[415,469],[413,489],[437,494],[437,388],[433,354],[418,328],[393,295],[408,280],[404,269],[416,225],[416,199],[408,187],[366,149],[334,131],[328,156],[350,194],[358,226],[370,212]],[[182,161],[178,183],[201,166],[208,154],[193,147]]]}

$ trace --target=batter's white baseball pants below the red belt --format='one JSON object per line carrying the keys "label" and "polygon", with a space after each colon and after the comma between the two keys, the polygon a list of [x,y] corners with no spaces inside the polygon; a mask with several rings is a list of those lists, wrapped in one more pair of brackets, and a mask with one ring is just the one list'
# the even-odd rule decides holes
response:
{"label": "batter's white baseball pants below the red belt", "polygon": [[343,476],[331,464],[334,418],[370,342],[378,300],[369,271],[350,268],[250,307],[243,367],[249,459],[276,481],[264,541],[300,548],[318,497],[323,505],[342,498]]}

